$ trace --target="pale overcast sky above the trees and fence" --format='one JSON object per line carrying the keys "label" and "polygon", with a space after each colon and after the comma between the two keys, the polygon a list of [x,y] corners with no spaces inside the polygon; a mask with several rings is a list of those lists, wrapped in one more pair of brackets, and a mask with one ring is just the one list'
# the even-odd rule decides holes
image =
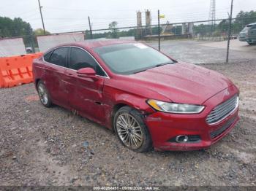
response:
{"label": "pale overcast sky above the trees and fence", "polygon": [[[231,0],[216,0],[217,18],[227,17]],[[170,23],[208,20],[210,0],[40,0],[45,29],[52,33],[89,29],[88,16],[94,29],[108,28],[116,20],[118,27],[135,26],[138,10],[151,10],[152,24],[157,24],[157,9]],[[234,0],[234,15],[256,10],[256,0]],[[0,0],[1,17],[21,17],[32,28],[42,28],[37,0]],[[145,24],[143,14],[143,25]]]}

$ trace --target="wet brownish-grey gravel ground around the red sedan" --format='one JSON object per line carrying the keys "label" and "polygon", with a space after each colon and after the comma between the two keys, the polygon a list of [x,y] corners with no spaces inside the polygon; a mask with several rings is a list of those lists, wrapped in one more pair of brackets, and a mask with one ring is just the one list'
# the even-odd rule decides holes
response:
{"label": "wet brownish-grey gravel ground around the red sedan", "polygon": [[132,152],[107,128],[43,107],[33,84],[0,89],[0,185],[256,185],[255,65],[203,65],[238,85],[241,120],[193,152]]}

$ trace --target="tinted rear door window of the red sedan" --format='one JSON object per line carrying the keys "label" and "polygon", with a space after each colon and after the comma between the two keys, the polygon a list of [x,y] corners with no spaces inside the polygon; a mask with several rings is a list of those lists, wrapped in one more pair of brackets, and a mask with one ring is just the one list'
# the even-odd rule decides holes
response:
{"label": "tinted rear door window of the red sedan", "polygon": [[58,66],[67,66],[67,53],[68,47],[60,47],[56,50],[53,50],[53,53],[50,55],[50,63],[54,63]]}

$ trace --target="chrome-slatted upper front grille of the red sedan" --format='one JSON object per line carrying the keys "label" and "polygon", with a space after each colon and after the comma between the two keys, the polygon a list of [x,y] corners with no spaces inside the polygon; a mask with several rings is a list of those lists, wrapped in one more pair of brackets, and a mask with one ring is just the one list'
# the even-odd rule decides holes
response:
{"label": "chrome-slatted upper front grille of the red sedan", "polygon": [[238,102],[238,95],[234,95],[232,98],[214,107],[211,113],[206,117],[206,122],[211,125],[225,119],[227,115],[237,108]]}

